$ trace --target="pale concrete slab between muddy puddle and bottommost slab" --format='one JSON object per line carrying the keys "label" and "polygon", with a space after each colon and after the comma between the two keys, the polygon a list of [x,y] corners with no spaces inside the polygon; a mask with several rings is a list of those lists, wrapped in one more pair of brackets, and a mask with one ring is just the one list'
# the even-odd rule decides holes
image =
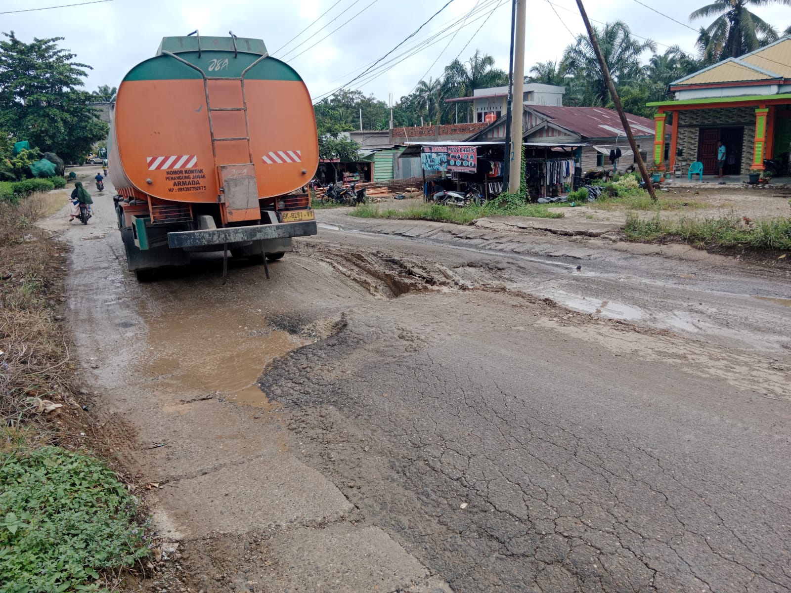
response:
{"label": "pale concrete slab between muddy puddle and bottommost slab", "polygon": [[335,485],[287,453],[170,482],[151,502],[164,513],[161,523],[187,540],[337,521],[353,508]]}

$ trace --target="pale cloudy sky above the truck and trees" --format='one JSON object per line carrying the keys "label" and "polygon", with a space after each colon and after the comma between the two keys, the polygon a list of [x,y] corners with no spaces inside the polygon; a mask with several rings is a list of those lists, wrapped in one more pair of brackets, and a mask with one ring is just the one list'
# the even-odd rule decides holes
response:
{"label": "pale cloudy sky above the truck and trees", "polygon": [[[285,59],[301,74],[316,99],[364,73],[448,0],[110,0],[6,13],[74,2],[81,0],[0,0],[0,31],[13,30],[22,40],[65,37],[62,47],[93,66],[86,82],[93,90],[98,85],[118,85],[134,64],[154,54],[163,36],[185,35],[196,28],[204,36],[233,30],[240,37],[263,39],[271,55]],[[678,43],[692,52],[695,32],[646,6],[687,24],[691,10],[705,3],[588,0],[586,9],[592,21],[625,21],[635,35],[659,43],[660,51]],[[780,30],[791,24],[788,6],[759,7],[755,12]],[[440,76],[445,64],[457,55],[467,59],[475,49],[493,55],[498,66],[507,69],[509,21],[509,0],[452,0],[380,62],[388,70],[371,70],[351,87],[382,100],[392,93],[398,100],[422,77]],[[696,21],[691,26],[702,24]],[[563,48],[583,31],[574,0],[529,0],[526,68],[560,59]]]}

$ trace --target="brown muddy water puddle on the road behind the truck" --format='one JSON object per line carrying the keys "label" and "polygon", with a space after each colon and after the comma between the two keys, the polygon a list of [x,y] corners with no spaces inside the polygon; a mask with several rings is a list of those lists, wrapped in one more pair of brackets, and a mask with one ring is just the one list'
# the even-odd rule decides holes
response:
{"label": "brown muddy water puddle on the road behind the truck", "polygon": [[149,344],[140,371],[162,391],[190,399],[214,395],[271,409],[255,381],[277,357],[311,340],[267,327],[260,312],[195,308],[184,315],[148,320]]}

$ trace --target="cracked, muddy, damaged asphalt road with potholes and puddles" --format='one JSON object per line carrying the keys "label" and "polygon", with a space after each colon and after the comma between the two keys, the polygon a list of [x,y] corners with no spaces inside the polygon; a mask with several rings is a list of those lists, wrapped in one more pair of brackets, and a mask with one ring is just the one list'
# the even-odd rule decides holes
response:
{"label": "cracked, muddy, damaged asphalt road with potholes and puddles", "polygon": [[791,590],[778,275],[323,229],[138,285],[101,200],[69,323],[171,585]]}

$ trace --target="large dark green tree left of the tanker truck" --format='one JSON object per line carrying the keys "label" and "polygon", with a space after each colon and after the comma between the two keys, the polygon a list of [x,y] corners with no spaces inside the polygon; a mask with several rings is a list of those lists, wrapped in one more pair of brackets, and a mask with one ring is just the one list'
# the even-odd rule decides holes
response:
{"label": "large dark green tree left of the tanker truck", "polygon": [[62,37],[25,43],[10,33],[0,41],[0,129],[32,145],[78,162],[94,142],[106,138],[108,126],[91,96],[78,88],[86,64],[58,47]]}

